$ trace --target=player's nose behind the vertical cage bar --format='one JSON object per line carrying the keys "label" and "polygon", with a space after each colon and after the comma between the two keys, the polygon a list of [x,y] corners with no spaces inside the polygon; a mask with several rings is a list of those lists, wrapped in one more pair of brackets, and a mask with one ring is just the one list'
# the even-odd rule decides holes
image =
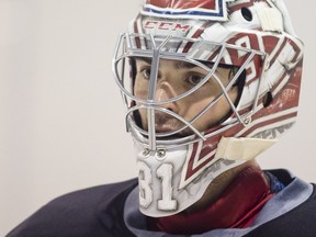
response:
{"label": "player's nose behind the vertical cage bar", "polygon": [[[158,81],[155,91],[155,101],[168,101],[177,95],[174,88],[167,80]],[[161,104],[162,108],[176,112],[178,110],[177,101],[166,102]]]}

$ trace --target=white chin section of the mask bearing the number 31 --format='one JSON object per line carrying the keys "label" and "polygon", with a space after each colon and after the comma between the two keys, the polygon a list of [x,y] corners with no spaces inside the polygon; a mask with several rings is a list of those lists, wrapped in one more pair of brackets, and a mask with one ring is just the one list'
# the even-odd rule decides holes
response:
{"label": "white chin section of the mask bearing the number 31", "polygon": [[[140,147],[139,147],[140,148]],[[185,182],[183,172],[188,165],[188,150],[172,149],[163,159],[157,154],[144,156],[138,149],[138,183],[140,212],[147,216],[159,217],[179,213],[199,201],[208,184],[222,172],[241,165],[245,160],[214,159],[195,180]]]}

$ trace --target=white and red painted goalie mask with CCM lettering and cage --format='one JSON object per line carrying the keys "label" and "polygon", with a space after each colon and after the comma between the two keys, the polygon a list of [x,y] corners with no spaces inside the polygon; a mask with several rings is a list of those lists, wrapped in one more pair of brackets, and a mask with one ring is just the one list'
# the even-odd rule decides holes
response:
{"label": "white and red painted goalie mask with CCM lettering and cage", "polygon": [[281,0],[147,0],[113,59],[144,214],[188,208],[292,127],[302,49]]}

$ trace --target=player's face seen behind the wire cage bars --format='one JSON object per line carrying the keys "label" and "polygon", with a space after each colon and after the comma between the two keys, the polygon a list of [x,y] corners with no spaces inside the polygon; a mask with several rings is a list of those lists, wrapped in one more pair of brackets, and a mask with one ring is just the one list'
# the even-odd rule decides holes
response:
{"label": "player's face seen behind the wire cage bars", "polygon": [[[145,58],[136,59],[136,77],[134,84],[134,94],[142,100],[148,99],[151,61]],[[222,86],[215,80],[214,76],[201,86],[201,81],[205,79],[210,71],[199,67],[194,64],[160,59],[159,68],[156,77],[156,89],[154,92],[154,101],[168,101],[180,94],[190,91],[192,88],[200,84],[200,88],[187,97],[162,103],[162,108],[171,111],[185,121],[193,121],[192,125],[200,132],[203,132],[213,125],[218,124],[225,119],[230,111],[230,105],[226,97],[221,97],[223,88],[227,87],[230,79],[234,77],[234,68],[217,67],[214,75],[217,76]],[[151,77],[153,80],[153,77]],[[227,91],[230,101],[236,101],[238,89],[232,87]],[[210,104],[213,104],[210,106]],[[205,108],[210,109],[205,110]],[[205,110],[205,112],[201,112]],[[139,110],[142,126],[144,129],[148,128],[148,113],[147,110]],[[200,114],[200,115],[199,115]],[[196,119],[198,116],[198,119]],[[180,129],[183,123],[162,111],[155,112],[155,126],[157,133],[168,133]],[[185,128],[180,131],[178,136],[185,136],[192,134],[192,129]]]}

